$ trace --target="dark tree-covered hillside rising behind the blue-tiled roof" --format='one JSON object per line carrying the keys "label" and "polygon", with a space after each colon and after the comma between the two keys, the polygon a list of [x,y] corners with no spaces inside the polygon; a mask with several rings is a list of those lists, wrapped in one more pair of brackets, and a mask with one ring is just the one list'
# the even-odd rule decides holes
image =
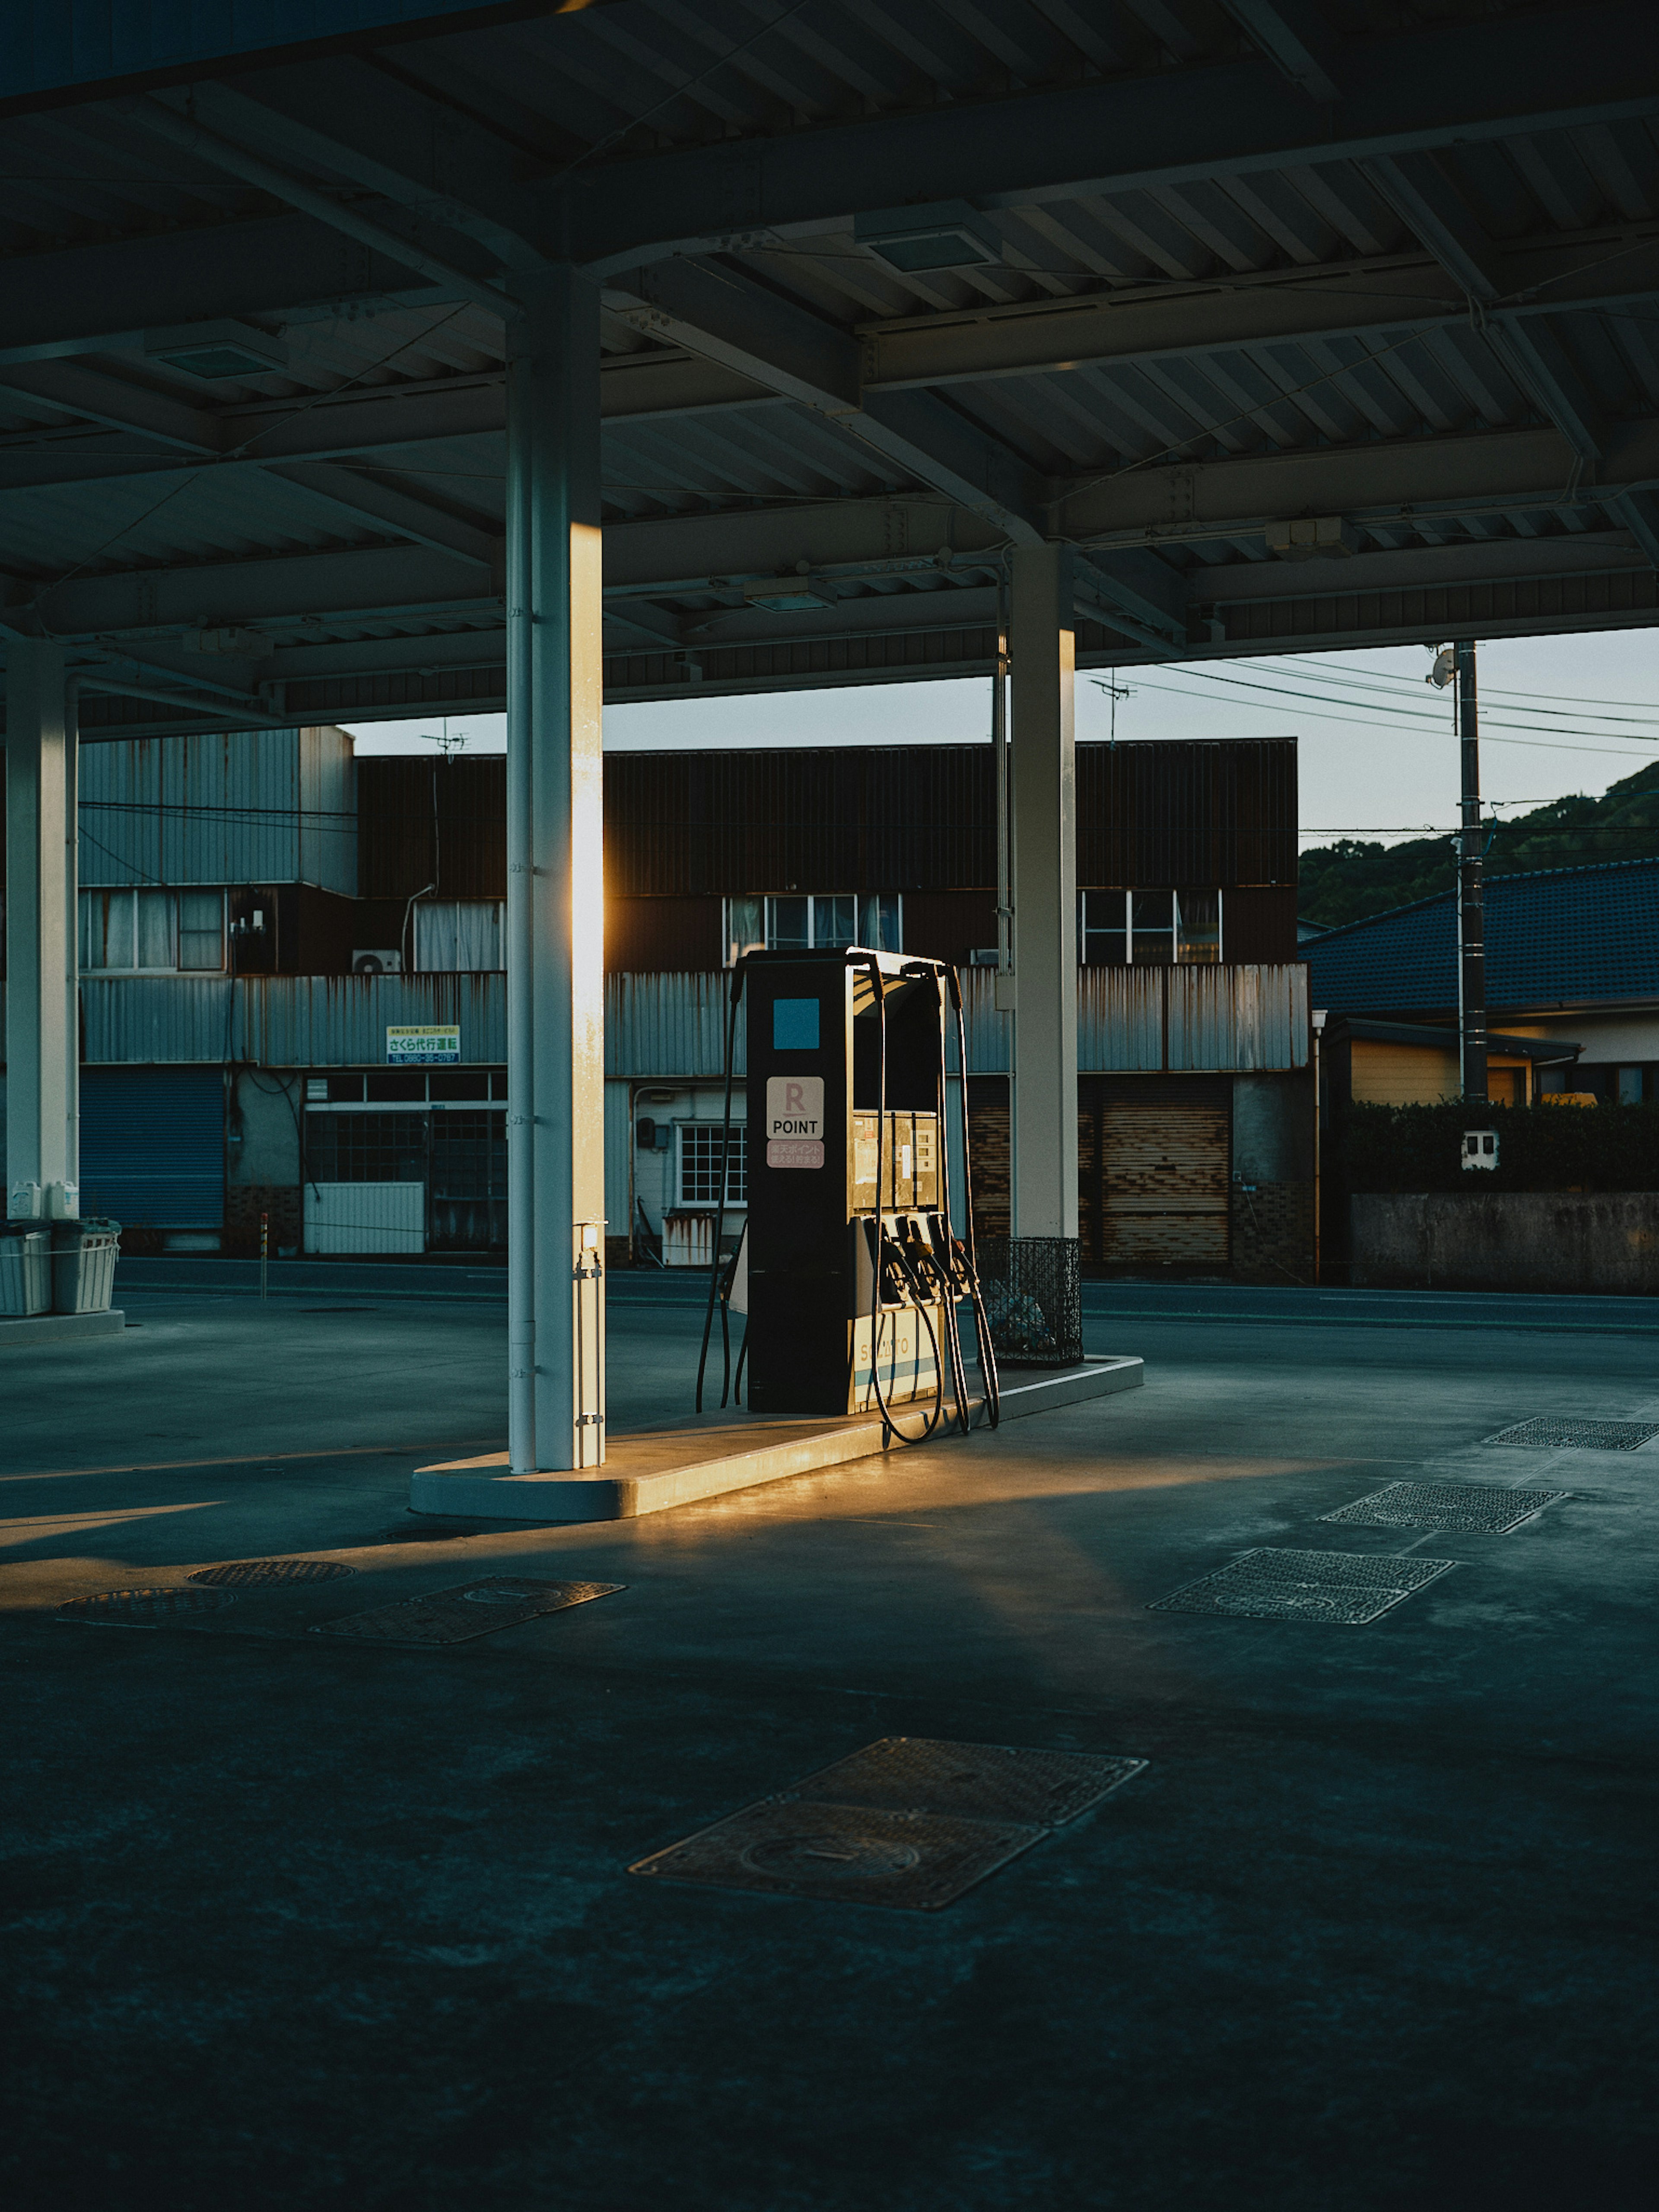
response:
{"label": "dark tree-covered hillside rising behind the blue-tiled roof", "polygon": [[[1659,854],[1659,761],[1610,783],[1601,799],[1553,799],[1531,814],[1489,830],[1486,874],[1526,876],[1540,867],[1588,867],[1593,860],[1646,860]],[[1296,911],[1336,929],[1367,914],[1433,898],[1458,880],[1458,841],[1420,836],[1402,845],[1338,838],[1301,858]]]}

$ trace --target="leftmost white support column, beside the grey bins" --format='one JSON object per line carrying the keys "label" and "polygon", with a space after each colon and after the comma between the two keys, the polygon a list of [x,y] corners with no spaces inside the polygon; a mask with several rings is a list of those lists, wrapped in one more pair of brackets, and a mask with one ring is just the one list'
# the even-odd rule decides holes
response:
{"label": "leftmost white support column, beside the grey bins", "polygon": [[7,646],[7,1206],[73,1214],[75,938],[64,653]]}

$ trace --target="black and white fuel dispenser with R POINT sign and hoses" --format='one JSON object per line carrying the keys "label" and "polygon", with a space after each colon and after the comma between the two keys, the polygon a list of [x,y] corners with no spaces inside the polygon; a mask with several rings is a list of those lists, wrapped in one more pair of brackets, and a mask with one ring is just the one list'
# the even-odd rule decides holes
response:
{"label": "black and white fuel dispenser with R POINT sign and hoses", "polygon": [[[925,1411],[969,1427],[960,1307],[973,1310],[987,1420],[995,1356],[967,1237],[951,1228],[945,1024],[962,1035],[956,969],[902,953],[748,953],[728,1011],[726,1128],[739,1002],[748,1037],[748,1223],[714,1310],[748,1327],[748,1402],[770,1416]],[[730,1141],[730,1137],[728,1137]],[[967,1126],[962,1130],[967,1172]],[[723,1219],[721,1219],[723,1230]],[[717,1254],[721,1237],[717,1234]],[[697,1402],[701,1409],[701,1369]],[[726,1405],[726,1391],[721,1391]],[[920,1438],[916,1438],[920,1440]]]}

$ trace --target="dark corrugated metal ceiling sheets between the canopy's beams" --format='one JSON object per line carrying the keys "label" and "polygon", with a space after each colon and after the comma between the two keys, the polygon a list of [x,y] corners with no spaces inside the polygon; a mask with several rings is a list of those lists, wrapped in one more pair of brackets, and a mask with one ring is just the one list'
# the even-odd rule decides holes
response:
{"label": "dark corrugated metal ceiling sheets between the canopy's beams", "polygon": [[[250,144],[261,159],[281,161],[325,199],[367,210],[394,230],[420,230],[451,261],[482,268],[484,232],[467,230],[462,219],[465,208],[493,206],[491,188],[469,168],[473,128],[504,148],[513,177],[562,179],[568,188],[575,170],[584,184],[591,179],[588,199],[604,199],[613,177],[626,181],[675,150],[772,148],[860,122],[971,113],[975,102],[1002,115],[1020,95],[1119,80],[1146,86],[1148,97],[1190,82],[1197,102],[1217,73],[1252,60],[1241,15],[1261,13],[1230,11],[1219,0],[807,0],[765,22],[741,0],[617,0],[575,15],[462,27],[445,38],[400,35],[378,55],[365,46],[367,58],[285,66],[270,77],[265,111],[250,106],[265,97],[259,71],[223,88],[201,86],[192,100],[195,113],[221,133],[226,113],[252,117]],[[1579,13],[1597,22],[1606,15]],[[1365,71],[1374,55],[1387,58],[1389,42],[1458,24],[1491,38],[1498,66],[1511,24],[1535,11],[1486,0],[1318,0],[1312,15],[1338,51],[1332,66],[1340,73],[1340,55]],[[1305,22],[1307,11],[1294,20]],[[1511,135],[1482,126],[1458,144],[1440,133],[1427,173],[1405,139],[1400,150],[1321,159],[1318,133],[1310,131],[1303,157],[1276,164],[1148,170],[1110,190],[980,192],[973,219],[991,254],[980,265],[909,274],[860,243],[845,215],[745,223],[748,186],[734,184],[730,232],[706,239],[692,261],[741,299],[799,310],[814,319],[810,327],[845,334],[863,347],[872,392],[929,394],[942,420],[982,440],[987,453],[1000,456],[998,467],[1006,462],[1029,478],[1026,498],[1053,535],[1077,535],[1102,560],[1155,544],[1177,591],[1197,577],[1206,606],[1259,595],[1252,571],[1263,568],[1283,582],[1283,597],[1296,597],[1298,573],[1272,555],[1263,535],[1276,509],[1263,493],[1261,504],[1239,509],[1237,526],[1214,526],[1179,507],[1157,524],[1139,511],[1113,522],[1117,491],[1148,469],[1212,471],[1383,451],[1409,458],[1420,440],[1489,440],[1491,449],[1500,434],[1531,429],[1564,438],[1571,451],[1553,480],[1533,471],[1522,495],[1502,487],[1469,495],[1447,489],[1429,500],[1332,493],[1329,504],[1347,520],[1347,551],[1360,564],[1352,577],[1365,573],[1367,555],[1389,555],[1398,566],[1407,555],[1455,549],[1462,566],[1429,560],[1420,564],[1425,584],[1442,573],[1513,577],[1526,546],[1537,549],[1540,575],[1577,577],[1586,562],[1650,571],[1659,518],[1644,535],[1626,495],[1648,476],[1626,471],[1615,491],[1597,495],[1608,473],[1599,456],[1626,427],[1659,420],[1659,285],[1644,290],[1639,276],[1641,254],[1659,243],[1659,100],[1648,100],[1652,113],[1615,113],[1621,62],[1632,88],[1648,86],[1646,53],[1610,58],[1608,97],[1588,104],[1582,122]],[[341,142],[330,157],[316,131],[288,128],[288,108],[314,97],[330,69],[349,73],[338,82],[361,102],[365,122],[376,88],[389,115],[403,115],[398,102],[422,104],[434,137],[411,155],[411,168],[427,179],[425,199],[387,197],[389,184],[376,188],[365,168],[380,159],[380,142],[369,146],[374,133],[363,146]],[[212,97],[221,91],[243,106],[217,113]],[[1639,108],[1641,100],[1626,106]],[[1345,111],[1329,113],[1340,119]],[[447,131],[456,133],[449,150]],[[1385,148],[1383,135],[1376,146]],[[55,268],[53,257],[69,248],[95,254],[111,243],[210,241],[223,226],[292,219],[281,197],[226,175],[210,148],[157,139],[119,102],[11,115],[0,124],[0,159],[9,179],[0,285],[7,268],[20,276],[38,261]],[[1110,148],[1099,159],[1110,164]],[[951,179],[940,177],[938,190],[949,192]],[[672,219],[666,208],[664,223]],[[361,248],[352,252],[365,259]],[[1531,257],[1526,270],[1535,272],[1524,296],[1502,290],[1522,265],[1517,254]],[[1555,294],[1551,285],[1566,276],[1551,274],[1551,254],[1559,270],[1573,263],[1571,283]],[[1601,263],[1606,296],[1590,296]],[[1489,265],[1495,274],[1482,292]],[[929,524],[925,509],[940,502],[938,480],[907,465],[902,442],[872,438],[856,405],[763,389],[730,369],[730,349],[699,354],[639,312],[633,301],[653,296],[648,283],[633,285],[626,270],[613,270],[611,281],[611,372],[650,367],[681,378],[675,389],[684,398],[655,407],[639,396],[644,387],[624,392],[619,378],[606,380],[615,394],[604,438],[608,522],[617,531],[668,518],[734,524],[708,546],[697,540],[697,557],[679,566],[661,555],[655,573],[630,568],[617,577],[617,650],[637,646],[644,624],[644,635],[668,641],[681,679],[692,679],[699,637],[741,630],[745,641],[783,641],[814,633],[814,619],[803,615],[772,617],[768,626],[741,591],[745,577],[794,562],[739,557],[761,538],[743,538],[737,524],[792,513],[803,518],[801,557],[832,584],[816,635],[858,635],[872,611],[891,626],[909,599],[927,602],[918,608],[925,626],[953,619],[964,635],[984,630],[1002,544],[1000,531],[984,526],[989,507],[958,504],[953,518],[945,495]],[[1345,285],[1360,303],[1354,330],[1338,327],[1332,305]],[[270,686],[279,646],[310,653],[294,670],[321,670],[327,646],[500,630],[500,577],[478,546],[502,529],[502,323],[476,301],[434,296],[431,285],[422,299],[414,274],[392,292],[385,279],[334,290],[332,299],[241,310],[252,330],[281,338],[285,363],[268,374],[204,380],[128,332],[111,334],[104,347],[71,347],[75,372],[84,372],[75,383],[51,358],[27,361],[27,347],[0,345],[0,564],[31,597],[42,586],[100,577],[131,577],[139,593],[137,622],[113,622],[111,602],[95,595],[84,595],[84,619],[69,597],[35,599],[58,606],[69,635],[91,641],[150,628],[170,650],[168,633],[181,639],[206,622],[252,622],[263,626],[270,666],[254,677],[257,653],[248,681]],[[1551,296],[1559,296],[1559,312],[1548,307]],[[1283,307],[1285,330],[1206,336],[1241,314],[1267,314],[1263,303],[1281,299],[1292,301]],[[1314,303],[1316,327],[1292,327],[1301,301]],[[1006,352],[1006,334],[1018,330],[1026,334],[1020,343],[1029,338],[1042,354],[1042,319],[1073,316],[1071,334],[1077,307],[1110,316],[1190,310],[1192,336],[1130,347],[1124,358],[1106,358],[1091,341],[1093,354],[1091,345],[1075,354],[1062,347],[1060,361],[1035,367]],[[1272,314],[1281,307],[1272,305]],[[947,365],[909,380],[905,347],[918,338],[938,341],[927,358]],[[984,374],[973,372],[975,347],[989,361]],[[692,389],[688,376],[703,383]],[[394,396],[411,409],[431,400],[436,411],[422,411],[411,436],[400,438],[398,422],[385,409],[376,414],[376,400]],[[192,420],[206,425],[206,445],[195,451]],[[175,436],[173,425],[184,429]],[[1659,478],[1659,467],[1648,473]],[[847,502],[883,500],[909,500],[911,520],[898,531],[902,544],[878,553],[838,553],[834,531],[821,533],[814,520]],[[1298,495],[1290,511],[1316,509]],[[918,535],[931,542],[922,546]],[[1568,542],[1571,560],[1562,551]],[[1478,553],[1495,544],[1511,546],[1506,566],[1482,571]],[[345,584],[345,571],[319,568],[316,619],[303,639],[294,635],[294,595],[305,580],[292,564],[409,546],[436,555],[431,575],[403,564],[394,582],[387,564],[378,604],[369,604],[374,571],[363,571],[367,582],[352,571]],[[951,546],[956,560],[905,566],[883,557],[927,555],[933,546]],[[442,566],[449,553],[460,557]],[[270,577],[294,577],[288,597],[279,593],[263,613],[248,582],[261,562]],[[175,622],[144,617],[146,577],[206,577],[226,564],[241,577],[239,604],[230,604],[226,582],[226,606],[217,611],[204,582],[168,599],[195,613]],[[624,619],[628,604],[637,613],[633,628]],[[714,633],[706,628],[710,617]],[[1440,602],[1425,602],[1422,619],[1440,619]],[[1144,657],[1228,644],[1225,611],[1194,615],[1194,624],[1159,637],[1128,622],[1088,650]]]}

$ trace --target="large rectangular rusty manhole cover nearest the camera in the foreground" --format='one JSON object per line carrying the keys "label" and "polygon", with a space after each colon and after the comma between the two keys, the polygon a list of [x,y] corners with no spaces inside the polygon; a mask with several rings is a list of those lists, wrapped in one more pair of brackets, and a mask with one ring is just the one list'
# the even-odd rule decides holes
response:
{"label": "large rectangular rusty manhole cover nearest the camera in the foreground", "polygon": [[768,1798],[653,1851],[628,1871],[836,1905],[938,1911],[1046,1834],[1011,1820]]}

